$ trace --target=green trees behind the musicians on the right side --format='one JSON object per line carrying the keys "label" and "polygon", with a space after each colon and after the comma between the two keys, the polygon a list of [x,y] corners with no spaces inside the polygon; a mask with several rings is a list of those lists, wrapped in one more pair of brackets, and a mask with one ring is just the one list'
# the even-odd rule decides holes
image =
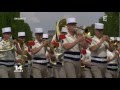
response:
{"label": "green trees behind the musicians on the right side", "polygon": [[105,15],[107,15],[107,22],[103,21],[102,17],[99,19],[99,22],[104,23],[105,25],[104,33],[109,36],[118,37],[119,36],[119,12],[105,12]]}

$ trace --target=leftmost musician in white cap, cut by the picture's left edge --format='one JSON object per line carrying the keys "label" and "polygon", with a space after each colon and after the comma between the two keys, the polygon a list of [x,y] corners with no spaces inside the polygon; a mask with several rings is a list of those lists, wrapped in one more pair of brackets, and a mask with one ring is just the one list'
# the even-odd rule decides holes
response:
{"label": "leftmost musician in white cap, cut by the picture's left edge", "polygon": [[2,28],[0,42],[0,78],[14,78],[14,45],[10,42],[11,27]]}

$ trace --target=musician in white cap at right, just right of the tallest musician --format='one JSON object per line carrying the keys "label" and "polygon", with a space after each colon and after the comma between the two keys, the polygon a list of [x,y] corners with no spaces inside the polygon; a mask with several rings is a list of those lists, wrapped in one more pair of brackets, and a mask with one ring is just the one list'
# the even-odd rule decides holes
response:
{"label": "musician in white cap at right, just right of the tallest musician", "polygon": [[95,35],[92,38],[92,43],[89,46],[91,51],[91,71],[94,78],[104,78],[107,68],[107,49],[112,50],[107,42],[109,37],[103,35],[104,24],[95,23]]}

